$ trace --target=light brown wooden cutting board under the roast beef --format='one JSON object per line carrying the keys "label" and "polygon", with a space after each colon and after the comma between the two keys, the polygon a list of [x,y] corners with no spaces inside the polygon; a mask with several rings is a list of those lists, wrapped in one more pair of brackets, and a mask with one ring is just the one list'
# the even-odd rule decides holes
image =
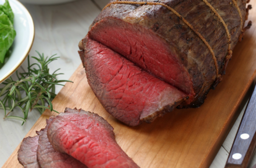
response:
{"label": "light brown wooden cutting board under the roast beef", "polygon": [[[252,1],[256,7],[256,1]],[[52,104],[55,110],[82,108],[105,118],[114,128],[116,141],[141,168],[206,168],[216,156],[236,117],[237,108],[256,75],[256,10],[250,11],[253,26],[237,44],[233,57],[216,90],[197,109],[175,109],[151,124],[128,127],[110,116],[90,89],[80,65]],[[78,57],[78,55],[77,55]],[[27,136],[44,128],[46,110]],[[22,168],[15,149],[2,168]]]}

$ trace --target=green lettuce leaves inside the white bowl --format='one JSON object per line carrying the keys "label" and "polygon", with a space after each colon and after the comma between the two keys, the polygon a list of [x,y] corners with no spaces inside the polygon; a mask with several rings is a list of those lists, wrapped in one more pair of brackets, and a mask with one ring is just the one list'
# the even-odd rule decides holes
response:
{"label": "green lettuce leaves inside the white bowl", "polygon": [[0,5],[0,63],[4,62],[5,55],[12,46],[16,31],[13,27],[14,14],[5,0],[4,5]]}

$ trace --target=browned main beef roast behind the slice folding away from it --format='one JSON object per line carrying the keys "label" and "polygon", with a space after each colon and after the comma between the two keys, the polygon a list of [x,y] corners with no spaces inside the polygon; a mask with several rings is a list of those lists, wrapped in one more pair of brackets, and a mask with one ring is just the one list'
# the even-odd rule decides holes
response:
{"label": "browned main beef roast behind the slice folding away from it", "polygon": [[[232,0],[207,1],[227,25],[233,50],[246,19],[246,0],[236,0],[239,9]],[[202,0],[161,0],[161,3],[177,11],[205,38],[215,54],[219,74],[225,73],[228,36],[213,10]],[[161,5],[110,5],[93,21],[88,35],[189,94],[182,107],[200,106],[218,81],[209,48],[183,20]]]}

